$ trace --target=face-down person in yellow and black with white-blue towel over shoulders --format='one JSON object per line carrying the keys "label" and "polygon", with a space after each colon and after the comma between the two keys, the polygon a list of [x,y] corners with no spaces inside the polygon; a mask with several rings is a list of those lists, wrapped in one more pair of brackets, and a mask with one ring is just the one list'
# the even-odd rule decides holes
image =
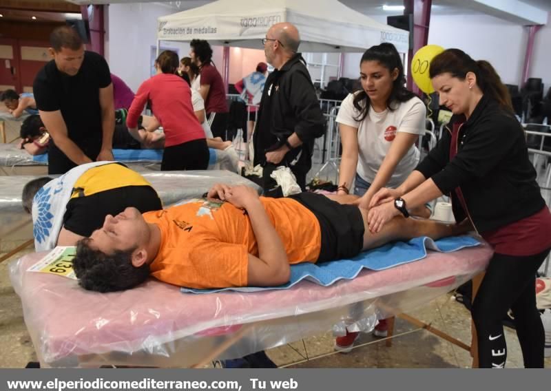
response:
{"label": "face-down person in yellow and black with white-blue towel over shoulders", "polygon": [[[100,228],[106,215],[116,215],[127,207],[142,212],[163,207],[152,185],[139,173],[118,162],[92,162],[74,167],[60,178],[31,180],[23,187],[21,196],[26,212],[31,213],[33,199],[37,209],[34,195],[45,186],[54,189],[48,205],[51,219],[63,219],[63,225],[60,224],[56,231],[56,224],[52,221],[54,228],[45,238],[45,242],[51,243],[50,246],[37,246],[37,250],[51,249],[56,245],[74,246],[78,240]],[[66,201],[63,202],[65,193]],[[41,224],[44,217],[38,211],[32,214],[37,244],[37,224]]]}

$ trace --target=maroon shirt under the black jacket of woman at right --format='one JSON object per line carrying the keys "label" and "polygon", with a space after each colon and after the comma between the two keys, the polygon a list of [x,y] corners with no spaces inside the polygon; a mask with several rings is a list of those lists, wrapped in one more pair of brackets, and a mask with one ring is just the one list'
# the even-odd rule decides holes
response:
{"label": "maroon shirt under the black jacket of woman at right", "polygon": [[[457,154],[459,129],[463,123],[453,125],[452,141],[450,142],[450,160]],[[468,215],[468,209],[461,189],[457,187],[455,194],[459,203]],[[522,207],[522,205],[519,205]],[[496,253],[518,257],[539,254],[551,247],[551,213],[547,206],[527,218],[501,226],[493,231],[481,232],[486,242],[490,243]]]}

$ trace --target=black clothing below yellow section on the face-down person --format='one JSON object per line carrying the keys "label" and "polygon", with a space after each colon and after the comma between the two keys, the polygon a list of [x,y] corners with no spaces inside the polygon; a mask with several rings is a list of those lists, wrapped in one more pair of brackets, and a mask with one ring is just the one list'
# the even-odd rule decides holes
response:
{"label": "black clothing below yellow section on the face-down person", "polygon": [[103,226],[106,215],[118,215],[127,207],[134,207],[145,213],[163,209],[163,204],[150,186],[119,187],[72,198],[67,202],[63,226],[77,235],[89,237]]}

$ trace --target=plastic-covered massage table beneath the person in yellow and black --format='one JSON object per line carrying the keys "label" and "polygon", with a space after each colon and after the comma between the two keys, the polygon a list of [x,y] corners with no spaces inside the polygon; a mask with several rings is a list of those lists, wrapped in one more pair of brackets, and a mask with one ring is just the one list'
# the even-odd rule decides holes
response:
{"label": "plastic-covered massage table beneath the person in yellow and black", "polygon": [[[136,169],[136,167],[132,167]],[[165,206],[180,200],[198,198],[213,184],[248,184],[261,189],[247,178],[225,170],[205,171],[151,171],[142,170],[146,178],[159,193]],[[37,176],[0,176],[0,252],[14,251],[32,238],[32,219],[21,207],[21,192],[30,180]],[[23,247],[24,248],[24,247]],[[6,257],[4,255],[2,258]]]}

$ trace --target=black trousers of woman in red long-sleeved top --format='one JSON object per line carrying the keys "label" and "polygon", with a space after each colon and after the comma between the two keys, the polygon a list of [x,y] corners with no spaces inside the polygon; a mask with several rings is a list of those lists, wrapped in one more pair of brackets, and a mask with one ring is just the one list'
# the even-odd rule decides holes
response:
{"label": "black trousers of woman in red long-sleeved top", "polygon": [[183,144],[166,147],[160,171],[206,170],[209,168],[209,147],[207,140],[199,138]]}

